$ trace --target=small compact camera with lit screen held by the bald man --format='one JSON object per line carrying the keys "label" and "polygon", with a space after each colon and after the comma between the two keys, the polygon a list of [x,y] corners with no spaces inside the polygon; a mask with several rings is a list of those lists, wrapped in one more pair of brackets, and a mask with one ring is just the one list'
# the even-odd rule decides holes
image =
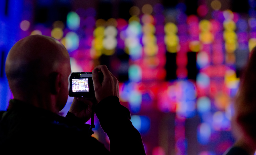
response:
{"label": "small compact camera with lit screen held by the bald man", "polygon": [[69,96],[70,97],[93,97],[92,72],[71,73],[69,78]]}

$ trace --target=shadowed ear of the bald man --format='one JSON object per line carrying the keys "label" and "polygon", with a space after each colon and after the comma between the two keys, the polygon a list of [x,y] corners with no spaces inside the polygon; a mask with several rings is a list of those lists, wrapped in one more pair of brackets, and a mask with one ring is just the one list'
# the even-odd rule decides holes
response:
{"label": "shadowed ear of the bald man", "polygon": [[60,91],[61,87],[61,74],[53,72],[49,74],[49,84],[51,94],[57,94]]}

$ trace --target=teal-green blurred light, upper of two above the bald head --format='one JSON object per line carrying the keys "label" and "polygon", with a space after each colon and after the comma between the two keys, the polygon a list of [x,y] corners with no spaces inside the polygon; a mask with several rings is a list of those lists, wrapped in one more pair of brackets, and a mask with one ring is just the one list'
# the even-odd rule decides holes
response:
{"label": "teal-green blurred light, upper of two above the bald head", "polygon": [[80,27],[80,17],[75,12],[69,12],[67,15],[67,27],[71,30],[77,30]]}

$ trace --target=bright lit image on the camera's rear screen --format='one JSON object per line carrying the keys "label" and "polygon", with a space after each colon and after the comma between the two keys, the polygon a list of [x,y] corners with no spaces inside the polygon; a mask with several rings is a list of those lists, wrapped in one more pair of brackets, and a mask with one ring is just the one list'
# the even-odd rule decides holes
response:
{"label": "bright lit image on the camera's rear screen", "polygon": [[73,92],[89,92],[88,78],[72,79]]}

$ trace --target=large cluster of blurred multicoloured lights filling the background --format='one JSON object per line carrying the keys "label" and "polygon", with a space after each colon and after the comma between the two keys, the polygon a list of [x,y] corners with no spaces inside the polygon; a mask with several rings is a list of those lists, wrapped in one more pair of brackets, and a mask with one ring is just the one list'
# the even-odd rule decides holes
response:
{"label": "large cluster of blurred multicoloured lights filling the background", "polygon": [[[161,4],[144,5],[142,14],[133,6],[128,21],[96,20],[93,8],[79,9],[68,14],[66,28],[64,23],[56,21],[50,32],[36,26],[30,34],[50,35],[61,41],[70,52],[72,71],[88,71],[84,70],[88,69],[86,65],[93,66],[100,56],[113,56],[122,49],[129,55],[129,80],[120,83],[120,101],[128,103],[134,114],[131,116],[134,127],[142,134],[150,131],[150,115],[140,115],[148,109],[175,113],[175,152],[187,154],[186,118],[199,115],[197,140],[201,145],[209,144],[215,133],[231,129],[231,99],[239,84],[235,51],[251,51],[256,45],[256,19],[252,16],[256,14],[255,4],[251,0],[249,4],[252,9],[248,21],[239,19],[231,10],[220,11],[218,0],[210,4],[214,10],[210,20],[200,20],[209,11],[205,4],[197,8],[198,16],[187,16],[184,4],[178,4],[175,22],[165,22],[169,15],[164,15]],[[29,32],[32,29],[27,20],[20,23],[20,28]],[[188,51],[196,53],[199,70],[196,81],[187,79]],[[166,52],[176,53],[175,81],[164,80]],[[86,62],[79,63],[81,59]],[[94,136],[99,138],[97,132]],[[153,155],[165,152],[161,146],[152,150]],[[208,154],[214,153],[199,153]]]}

